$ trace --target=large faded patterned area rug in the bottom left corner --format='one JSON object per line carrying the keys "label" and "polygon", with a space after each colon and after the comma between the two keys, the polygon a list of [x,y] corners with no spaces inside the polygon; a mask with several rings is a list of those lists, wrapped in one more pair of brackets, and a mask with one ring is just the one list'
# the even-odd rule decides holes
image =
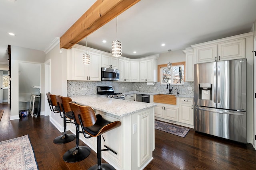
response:
{"label": "large faded patterned area rug in the bottom left corner", "polygon": [[28,135],[0,142],[0,170],[38,170]]}

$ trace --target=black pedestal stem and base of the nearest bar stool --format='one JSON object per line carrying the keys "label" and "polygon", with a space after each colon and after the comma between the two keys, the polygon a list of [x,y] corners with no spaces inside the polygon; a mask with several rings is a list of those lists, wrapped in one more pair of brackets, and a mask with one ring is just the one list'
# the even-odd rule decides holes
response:
{"label": "black pedestal stem and base of the nearest bar stool", "polygon": [[98,164],[90,167],[88,170],[115,170],[115,168],[106,163],[101,163],[101,135],[97,136],[97,160]]}

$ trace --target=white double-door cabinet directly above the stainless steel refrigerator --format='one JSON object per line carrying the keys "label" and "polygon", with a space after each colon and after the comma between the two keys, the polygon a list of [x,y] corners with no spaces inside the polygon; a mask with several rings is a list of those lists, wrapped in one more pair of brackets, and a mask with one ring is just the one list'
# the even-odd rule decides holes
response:
{"label": "white double-door cabinet directly above the stainless steel refrigerator", "polygon": [[207,63],[246,58],[246,38],[252,33],[192,45],[195,63]]}

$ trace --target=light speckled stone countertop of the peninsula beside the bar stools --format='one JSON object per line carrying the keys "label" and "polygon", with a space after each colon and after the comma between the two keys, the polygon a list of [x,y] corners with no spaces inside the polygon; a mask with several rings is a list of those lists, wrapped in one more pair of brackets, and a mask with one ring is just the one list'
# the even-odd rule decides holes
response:
{"label": "light speckled stone countertop of the peninsula beside the bar stools", "polygon": [[155,107],[156,104],[102,97],[103,95],[70,96],[72,101],[120,117]]}

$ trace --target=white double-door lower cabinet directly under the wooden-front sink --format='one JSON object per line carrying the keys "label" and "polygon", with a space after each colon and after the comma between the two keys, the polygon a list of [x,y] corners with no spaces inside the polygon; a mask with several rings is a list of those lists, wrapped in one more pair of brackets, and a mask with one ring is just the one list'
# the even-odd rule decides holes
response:
{"label": "white double-door lower cabinet directly under the wooden-front sink", "polygon": [[160,117],[172,121],[179,121],[178,113],[179,108],[172,107],[172,105],[157,104],[155,107],[155,117]]}

